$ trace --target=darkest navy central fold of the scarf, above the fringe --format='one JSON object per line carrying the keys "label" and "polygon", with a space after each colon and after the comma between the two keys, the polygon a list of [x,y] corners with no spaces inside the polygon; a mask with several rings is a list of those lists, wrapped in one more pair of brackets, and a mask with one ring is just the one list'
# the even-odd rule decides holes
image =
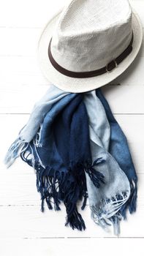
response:
{"label": "darkest navy central fold of the scarf, above the fringe", "polygon": [[88,116],[83,94],[69,103],[69,108],[58,115],[53,123],[56,146],[67,168],[75,170],[77,163],[91,160]]}

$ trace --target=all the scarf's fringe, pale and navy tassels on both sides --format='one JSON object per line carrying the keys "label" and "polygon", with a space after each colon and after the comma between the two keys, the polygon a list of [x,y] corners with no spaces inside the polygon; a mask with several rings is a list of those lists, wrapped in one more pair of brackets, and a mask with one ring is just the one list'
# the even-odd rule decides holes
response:
{"label": "all the scarf's fringe, pale and navy tassels on both sides", "polygon": [[[36,146],[36,145],[35,145]],[[31,152],[28,152],[26,149],[29,147]],[[35,148],[36,149],[36,148]],[[37,150],[36,150],[37,153]],[[37,191],[41,194],[41,211],[45,211],[45,201],[47,203],[48,208],[55,211],[60,211],[61,200],[64,202],[67,210],[67,220],[65,225],[72,227],[72,229],[77,230],[85,230],[86,225],[83,221],[83,218],[77,211],[77,200],[83,200],[83,206],[81,209],[83,210],[86,206],[86,200],[88,197],[86,188],[82,186],[80,191],[80,186],[72,181],[68,182],[70,170],[67,173],[60,173],[58,170],[50,170],[50,168],[44,167],[42,165],[41,159],[39,162],[35,162],[34,152],[31,148],[30,143],[27,143],[25,140],[17,138],[14,143],[10,146],[7,151],[6,157],[4,158],[4,163],[7,167],[10,167],[17,157],[21,156],[22,159],[27,162],[29,165],[34,167],[37,173]],[[31,158],[29,158],[31,156]],[[39,155],[37,155],[39,158]],[[105,184],[105,176],[102,173],[95,170],[95,166],[104,162],[105,159],[99,158],[91,164],[91,161],[87,161],[85,165],[77,164],[77,167],[80,167],[80,171],[85,170],[90,176],[91,181],[93,181],[94,185],[99,188],[101,183]],[[78,172],[78,170],[77,170]],[[53,173],[53,175],[51,174]],[[102,200],[102,206],[91,208],[91,217],[94,219],[96,224],[100,225],[102,228],[107,230],[107,227],[110,225],[107,223],[106,219],[113,223],[113,229],[115,236],[118,236],[120,233],[119,221],[121,220],[120,216],[126,219],[126,210],[129,208],[129,213],[132,214],[136,211],[136,203],[137,203],[137,180],[132,179],[130,182],[131,194],[129,199],[127,200],[126,192],[122,192],[122,194],[117,194],[115,197],[107,198]],[[53,200],[52,200],[53,199]],[[111,204],[111,209],[110,209]],[[109,206],[108,206],[109,205]],[[107,208],[108,206],[108,208]],[[109,212],[108,212],[108,211]]]}

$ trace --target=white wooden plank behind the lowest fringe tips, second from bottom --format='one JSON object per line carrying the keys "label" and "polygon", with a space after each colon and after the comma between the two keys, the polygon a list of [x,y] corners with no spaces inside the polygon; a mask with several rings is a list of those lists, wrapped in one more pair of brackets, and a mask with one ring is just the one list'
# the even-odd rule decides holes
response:
{"label": "white wooden plank behind the lowest fringe tips, second from bottom", "polygon": [[[80,209],[79,209],[80,211]],[[114,237],[113,229],[105,232],[91,219],[88,206],[83,210],[86,230],[80,232],[65,227],[65,210],[42,213],[39,206],[1,206],[0,237],[1,238],[47,238],[47,237]],[[144,206],[139,206],[137,212],[128,214],[127,220],[121,221],[121,237],[143,237]]]}

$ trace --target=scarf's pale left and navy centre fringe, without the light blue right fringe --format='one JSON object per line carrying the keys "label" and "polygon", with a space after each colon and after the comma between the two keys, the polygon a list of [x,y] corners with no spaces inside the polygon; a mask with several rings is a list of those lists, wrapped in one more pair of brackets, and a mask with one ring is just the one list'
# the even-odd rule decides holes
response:
{"label": "scarf's pale left and navy centre fringe, without the light blue right fringe", "polygon": [[[38,138],[37,138],[38,139]],[[33,140],[34,143],[34,140]],[[69,175],[72,175],[72,170],[67,170],[67,173],[59,172],[58,170],[53,170],[50,168],[45,168],[42,165],[42,161],[39,158],[39,154],[37,153],[37,146],[39,145],[39,140],[37,140],[37,145],[34,143],[34,150],[31,147],[31,143],[27,143],[25,140],[17,138],[14,143],[10,146],[7,151],[6,157],[4,159],[7,167],[10,167],[17,157],[21,157],[24,162],[27,162],[31,167],[34,168],[37,174],[37,191],[41,195],[41,211],[45,211],[45,201],[47,203],[48,208],[55,211],[60,211],[61,200],[64,202],[67,211],[67,220],[65,225],[72,227],[72,229],[77,230],[85,230],[86,225],[81,217],[80,213],[77,211],[77,201],[82,200],[83,205],[81,209],[83,210],[86,207],[86,201],[88,198],[88,192],[86,189],[86,180],[81,181],[82,178],[77,182],[75,180],[75,171],[74,171],[74,180],[69,182]],[[37,154],[38,161],[34,159],[34,151]],[[102,173],[96,171],[94,169],[95,165],[102,163],[104,159],[96,159],[94,164],[91,164],[91,161],[86,161],[84,165],[77,164],[79,170],[77,173],[83,173],[86,171],[93,181],[96,187],[100,187],[100,183],[105,183],[104,176]],[[86,177],[85,177],[86,178]]]}

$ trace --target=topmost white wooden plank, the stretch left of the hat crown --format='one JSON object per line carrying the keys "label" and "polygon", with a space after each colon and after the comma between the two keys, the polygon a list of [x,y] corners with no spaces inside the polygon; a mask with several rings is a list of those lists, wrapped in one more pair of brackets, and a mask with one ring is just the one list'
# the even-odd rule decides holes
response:
{"label": "topmost white wooden plank, the stretch left of the hat crown", "polygon": [[[69,0],[5,0],[0,10],[0,26],[43,28],[45,23]],[[7,8],[9,7],[9,8]],[[6,15],[7,14],[7,15]],[[14,15],[15,14],[15,15]]]}

